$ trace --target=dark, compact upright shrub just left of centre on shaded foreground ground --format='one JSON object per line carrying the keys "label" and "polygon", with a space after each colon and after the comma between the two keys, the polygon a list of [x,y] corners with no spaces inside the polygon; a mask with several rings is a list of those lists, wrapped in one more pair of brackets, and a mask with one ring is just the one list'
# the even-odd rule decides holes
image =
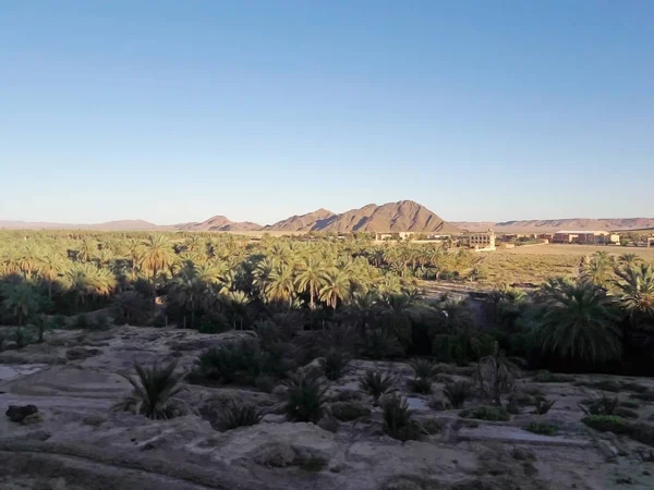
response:
{"label": "dark, compact upright shrub just left of centre on shaded foreground ground", "polygon": [[311,421],[316,424],[324,413],[325,393],[323,385],[315,375],[291,376],[284,381],[288,387],[284,412],[292,421]]}

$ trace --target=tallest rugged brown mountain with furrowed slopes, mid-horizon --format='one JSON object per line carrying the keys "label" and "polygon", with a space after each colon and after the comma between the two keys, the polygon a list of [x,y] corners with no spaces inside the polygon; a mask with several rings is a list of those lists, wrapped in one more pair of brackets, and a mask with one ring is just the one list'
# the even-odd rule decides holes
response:
{"label": "tallest rugged brown mountain with furrowed slopes, mid-horizon", "polygon": [[[287,226],[287,228],[282,228]],[[412,200],[387,203],[382,206],[370,204],[341,215],[325,209],[296,216],[270,225],[269,230],[324,232],[399,232],[458,233],[459,229],[444,221],[424,206]]]}

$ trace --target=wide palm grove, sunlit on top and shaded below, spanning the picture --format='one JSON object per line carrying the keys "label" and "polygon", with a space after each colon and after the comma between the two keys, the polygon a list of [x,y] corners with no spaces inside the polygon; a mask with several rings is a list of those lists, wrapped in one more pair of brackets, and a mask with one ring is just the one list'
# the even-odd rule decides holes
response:
{"label": "wide palm grove, sunlit on top and shaded below, spanning the picture", "polygon": [[365,236],[3,232],[0,275],[0,321],[15,326],[0,347],[112,321],[252,330],[291,365],[320,350],[463,365],[498,342],[532,367],[642,372],[654,354],[654,273],[633,254],[597,253],[577,277],[529,294],[498,286],[481,303],[420,294],[420,281],[482,279],[470,253]]}

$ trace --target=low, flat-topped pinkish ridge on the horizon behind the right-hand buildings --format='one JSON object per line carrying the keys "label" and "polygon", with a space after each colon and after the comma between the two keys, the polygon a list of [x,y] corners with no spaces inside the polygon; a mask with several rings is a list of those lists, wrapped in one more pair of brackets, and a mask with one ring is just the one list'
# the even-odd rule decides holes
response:
{"label": "low, flat-topped pinkish ridge on the horizon behind the right-hand buildings", "polygon": [[468,231],[485,231],[488,228],[496,233],[550,233],[559,230],[642,230],[654,228],[654,218],[568,218],[560,220],[521,220],[501,222],[456,222],[457,226]]}

